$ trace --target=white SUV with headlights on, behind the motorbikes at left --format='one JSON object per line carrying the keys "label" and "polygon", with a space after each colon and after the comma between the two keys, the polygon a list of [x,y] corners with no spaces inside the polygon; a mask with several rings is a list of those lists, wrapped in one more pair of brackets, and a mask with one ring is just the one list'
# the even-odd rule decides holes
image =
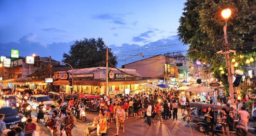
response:
{"label": "white SUV with headlights on, behind the motorbikes at left", "polygon": [[32,106],[33,109],[36,109],[36,110],[38,110],[38,106],[41,101],[44,102],[46,109],[49,109],[52,103],[54,103],[54,101],[52,101],[52,99],[46,95],[32,95],[28,99],[28,103]]}

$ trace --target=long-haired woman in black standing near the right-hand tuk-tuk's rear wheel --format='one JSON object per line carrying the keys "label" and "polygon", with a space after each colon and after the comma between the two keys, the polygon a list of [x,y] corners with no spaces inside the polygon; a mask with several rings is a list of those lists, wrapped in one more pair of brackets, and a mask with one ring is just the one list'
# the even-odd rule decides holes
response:
{"label": "long-haired woman in black standing near the right-hand tuk-tuk's rear wheel", "polygon": [[206,123],[207,123],[207,131],[205,136],[209,135],[210,127],[212,129],[212,136],[214,136],[214,113],[210,106],[207,107],[207,111],[206,111],[206,114],[204,114],[204,116],[206,118]]}

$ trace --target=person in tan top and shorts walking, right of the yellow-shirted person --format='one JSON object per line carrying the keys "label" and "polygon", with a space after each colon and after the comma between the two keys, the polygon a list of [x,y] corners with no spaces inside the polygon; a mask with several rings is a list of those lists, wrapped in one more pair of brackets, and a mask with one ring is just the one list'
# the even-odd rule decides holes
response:
{"label": "person in tan top and shorts walking, right of the yellow-shirted person", "polygon": [[118,136],[119,134],[119,127],[120,125],[122,126],[123,128],[123,133],[125,133],[125,125],[124,125],[124,122],[125,122],[125,111],[124,109],[122,108],[122,105],[117,105],[117,110],[116,110],[116,134],[115,136]]}

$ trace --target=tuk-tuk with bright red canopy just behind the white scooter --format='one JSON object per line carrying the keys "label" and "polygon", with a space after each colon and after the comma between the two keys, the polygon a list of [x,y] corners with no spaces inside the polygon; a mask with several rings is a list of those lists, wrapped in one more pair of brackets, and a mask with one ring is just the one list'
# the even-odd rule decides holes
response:
{"label": "tuk-tuk with bright red canopy just behind the white scooter", "polygon": [[89,111],[99,111],[99,107],[97,107],[97,105],[99,104],[96,99],[101,98],[100,96],[95,96],[95,95],[81,95],[79,96],[79,98],[81,99],[85,99],[88,98],[90,100],[89,104],[87,104],[87,109],[89,109]]}

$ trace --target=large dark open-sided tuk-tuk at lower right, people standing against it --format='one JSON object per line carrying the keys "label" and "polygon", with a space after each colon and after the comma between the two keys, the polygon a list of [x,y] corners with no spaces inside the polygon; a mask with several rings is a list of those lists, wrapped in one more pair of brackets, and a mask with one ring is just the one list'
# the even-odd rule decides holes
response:
{"label": "large dark open-sided tuk-tuk at lower right, people standing against it", "polygon": [[[204,116],[204,114],[207,111],[207,107],[210,106],[212,108],[212,111],[214,112],[214,119],[215,119],[214,130],[215,131],[222,131],[222,124],[221,124],[222,108],[226,108],[228,112],[233,111],[232,107],[201,103],[201,102],[189,102],[189,106],[191,107],[191,112],[190,112],[191,120],[186,120],[186,122],[196,125],[199,131],[202,133],[206,132],[206,129],[207,129],[207,122]],[[238,118],[236,117],[232,118],[231,123],[232,123],[232,126],[230,126],[229,128],[229,132],[237,133],[239,136],[247,135],[245,126],[239,123]]]}

